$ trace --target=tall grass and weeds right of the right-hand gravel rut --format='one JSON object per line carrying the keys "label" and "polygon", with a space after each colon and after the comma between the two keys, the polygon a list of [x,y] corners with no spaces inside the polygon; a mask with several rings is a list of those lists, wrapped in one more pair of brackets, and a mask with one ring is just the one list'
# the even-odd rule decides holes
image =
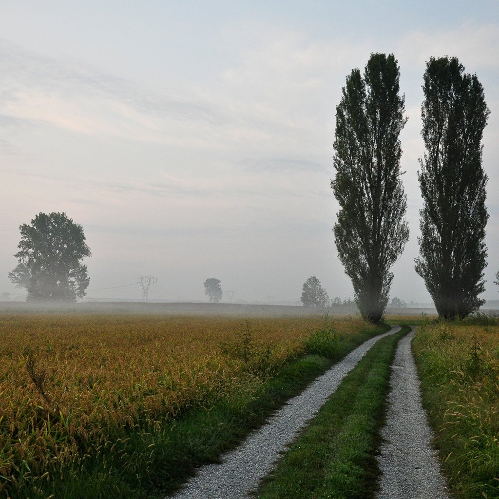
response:
{"label": "tall grass and weeds right of the right-hand gravel rut", "polygon": [[427,322],[413,341],[423,401],[456,498],[499,498],[499,321]]}

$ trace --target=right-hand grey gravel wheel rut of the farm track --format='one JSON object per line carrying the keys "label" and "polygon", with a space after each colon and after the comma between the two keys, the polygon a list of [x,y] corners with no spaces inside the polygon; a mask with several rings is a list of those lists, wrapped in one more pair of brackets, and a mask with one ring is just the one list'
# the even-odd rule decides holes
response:
{"label": "right-hand grey gravel wheel rut of the farm track", "polygon": [[378,458],[383,472],[379,499],[448,499],[433,434],[421,404],[419,380],[411,352],[414,329],[402,338],[392,366],[385,444]]}

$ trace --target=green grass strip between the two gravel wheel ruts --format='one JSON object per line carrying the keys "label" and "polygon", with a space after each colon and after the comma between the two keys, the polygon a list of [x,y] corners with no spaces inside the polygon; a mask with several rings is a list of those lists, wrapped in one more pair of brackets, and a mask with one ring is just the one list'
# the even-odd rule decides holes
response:
{"label": "green grass strip between the two gravel wheel ruts", "polygon": [[255,496],[261,499],[370,498],[391,364],[405,326],[378,341],[284,454]]}

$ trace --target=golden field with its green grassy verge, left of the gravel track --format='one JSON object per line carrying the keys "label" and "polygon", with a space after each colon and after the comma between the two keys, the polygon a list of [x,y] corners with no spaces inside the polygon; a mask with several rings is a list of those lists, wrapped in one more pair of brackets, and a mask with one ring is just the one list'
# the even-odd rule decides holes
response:
{"label": "golden field with its green grassy verge, left of the gravel track", "polygon": [[[341,320],[334,336],[320,322],[313,316],[3,314],[0,497],[169,490],[182,479],[175,470],[189,473],[216,459],[213,452],[232,445],[327,367],[305,354],[338,358],[380,332]],[[182,434],[189,418],[201,423]],[[217,433],[210,418],[226,440],[210,441]],[[203,446],[199,458],[186,451]]]}

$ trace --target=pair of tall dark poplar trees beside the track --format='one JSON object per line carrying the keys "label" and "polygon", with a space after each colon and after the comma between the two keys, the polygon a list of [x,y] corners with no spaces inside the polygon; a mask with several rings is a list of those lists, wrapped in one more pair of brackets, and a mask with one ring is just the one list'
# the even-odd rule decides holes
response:
{"label": "pair of tall dark poplar trees beside the track", "polygon": [[[383,319],[390,267],[409,239],[399,139],[407,117],[399,77],[393,54],[373,53],[363,76],[359,69],[347,76],[336,108],[335,243],[359,310],[374,323]],[[424,205],[416,272],[440,316],[464,318],[485,302],[478,297],[485,289],[489,218],[482,136],[490,111],[476,74],[465,73],[456,57],[430,58],[423,81],[425,153],[418,179]]]}

